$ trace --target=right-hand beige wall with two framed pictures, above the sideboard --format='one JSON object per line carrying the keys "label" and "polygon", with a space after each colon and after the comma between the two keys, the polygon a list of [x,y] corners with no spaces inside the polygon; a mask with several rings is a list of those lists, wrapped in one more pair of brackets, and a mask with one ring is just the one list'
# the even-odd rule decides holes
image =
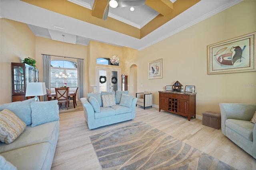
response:
{"label": "right-hand beige wall with two framed pictures, above the sideboard", "polygon": [[[256,103],[256,72],[207,74],[207,45],[256,31],[256,1],[243,1],[139,52],[138,91],[158,91],[177,80],[196,86],[196,114],[220,112],[220,102]],[[255,44],[254,44],[255,45]],[[148,79],[148,62],[163,59],[163,78]],[[142,87],[143,86],[143,87]]]}

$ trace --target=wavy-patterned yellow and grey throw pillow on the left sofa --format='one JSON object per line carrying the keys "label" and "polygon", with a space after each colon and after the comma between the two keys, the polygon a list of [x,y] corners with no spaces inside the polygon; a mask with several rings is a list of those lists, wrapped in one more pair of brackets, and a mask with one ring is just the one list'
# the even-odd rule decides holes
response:
{"label": "wavy-patterned yellow and grey throw pillow on the left sofa", "polygon": [[26,128],[26,123],[12,111],[3,109],[0,111],[0,141],[6,144],[12,143]]}

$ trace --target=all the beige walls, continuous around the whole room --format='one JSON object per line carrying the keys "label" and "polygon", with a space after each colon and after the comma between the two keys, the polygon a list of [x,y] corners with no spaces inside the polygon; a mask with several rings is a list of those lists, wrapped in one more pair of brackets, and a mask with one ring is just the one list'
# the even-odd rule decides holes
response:
{"label": "all the beige walls, continuous around the whole room", "polygon": [[[42,55],[84,59],[84,96],[96,86],[98,57],[117,55],[121,74],[128,75],[128,90],[152,91],[158,107],[158,91],[176,80],[196,86],[196,113],[219,112],[220,102],[256,103],[256,72],[207,74],[207,45],[256,31],[256,1],[243,1],[142,51],[90,41],[72,45],[36,37],[24,23],[0,19],[0,104],[11,102],[11,62],[36,59],[42,80]],[[25,42],[25,43],[24,43]],[[148,62],[163,59],[163,78],[148,79]],[[131,75],[130,75],[131,74]],[[136,80],[134,77],[137,77]],[[135,87],[136,86],[136,87]],[[135,90],[134,90],[135,89]],[[135,94],[134,94],[135,95]]]}

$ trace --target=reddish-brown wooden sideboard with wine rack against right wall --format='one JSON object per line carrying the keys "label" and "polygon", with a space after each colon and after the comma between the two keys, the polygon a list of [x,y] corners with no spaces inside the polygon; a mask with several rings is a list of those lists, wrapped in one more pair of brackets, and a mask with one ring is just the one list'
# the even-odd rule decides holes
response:
{"label": "reddish-brown wooden sideboard with wine rack against right wall", "polygon": [[159,111],[164,110],[170,113],[190,118],[196,118],[196,93],[184,92],[159,92]]}

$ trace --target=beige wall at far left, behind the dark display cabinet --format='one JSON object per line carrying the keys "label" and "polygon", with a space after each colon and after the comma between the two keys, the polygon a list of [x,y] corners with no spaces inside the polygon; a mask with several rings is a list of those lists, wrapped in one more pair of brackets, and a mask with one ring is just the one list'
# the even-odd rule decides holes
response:
{"label": "beige wall at far left, behind the dark display cabinet", "polygon": [[24,23],[1,18],[0,25],[0,104],[4,104],[12,101],[11,63],[35,59],[36,37]]}

